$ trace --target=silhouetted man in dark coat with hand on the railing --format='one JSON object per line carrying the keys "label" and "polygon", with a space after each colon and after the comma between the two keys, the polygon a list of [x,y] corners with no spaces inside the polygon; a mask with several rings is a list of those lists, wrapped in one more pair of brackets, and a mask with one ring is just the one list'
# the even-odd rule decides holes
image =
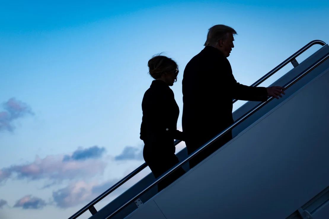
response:
{"label": "silhouetted man in dark coat with hand on the railing", "polygon": [[[250,87],[237,83],[227,57],[234,48],[233,34],[225,25],[208,31],[205,48],[186,65],[183,76],[183,132],[188,154],[215,137],[233,121],[232,99],[266,101],[282,97],[282,87]],[[190,160],[190,168],[232,139],[228,132]]]}

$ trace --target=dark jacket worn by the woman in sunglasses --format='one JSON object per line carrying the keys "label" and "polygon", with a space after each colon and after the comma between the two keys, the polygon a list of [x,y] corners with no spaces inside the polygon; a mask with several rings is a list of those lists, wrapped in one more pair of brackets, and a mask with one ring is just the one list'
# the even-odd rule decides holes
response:
{"label": "dark jacket worn by the woman in sunglasses", "polygon": [[174,93],[164,81],[152,81],[144,94],[142,110],[140,139],[145,143],[144,155],[175,153],[174,139],[183,137],[177,130],[179,108]]}

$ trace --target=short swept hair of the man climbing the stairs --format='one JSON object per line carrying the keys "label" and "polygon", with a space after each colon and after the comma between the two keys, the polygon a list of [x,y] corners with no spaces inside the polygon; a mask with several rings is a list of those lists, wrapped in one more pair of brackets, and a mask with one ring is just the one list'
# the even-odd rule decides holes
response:
{"label": "short swept hair of the man climbing the stairs", "polygon": [[226,33],[237,34],[237,32],[233,28],[223,24],[217,24],[215,26],[212,26],[208,30],[207,40],[204,46],[208,46],[208,45],[215,46],[218,40],[226,38]]}

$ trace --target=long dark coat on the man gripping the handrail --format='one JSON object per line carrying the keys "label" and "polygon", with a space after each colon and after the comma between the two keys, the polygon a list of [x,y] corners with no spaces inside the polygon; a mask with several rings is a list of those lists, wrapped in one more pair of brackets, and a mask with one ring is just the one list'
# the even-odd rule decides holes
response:
{"label": "long dark coat on the man gripping the handrail", "polygon": [[265,101],[267,91],[237,83],[227,58],[206,46],[184,70],[182,125],[188,149],[188,141],[208,141],[233,123],[232,99]]}

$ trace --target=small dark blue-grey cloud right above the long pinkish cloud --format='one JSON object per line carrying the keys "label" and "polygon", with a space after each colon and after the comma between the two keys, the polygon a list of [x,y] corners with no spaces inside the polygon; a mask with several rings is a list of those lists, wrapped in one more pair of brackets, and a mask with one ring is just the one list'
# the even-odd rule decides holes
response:
{"label": "small dark blue-grey cloud right above the long pinkish cloud", "polygon": [[102,156],[104,152],[105,152],[105,148],[98,147],[97,145],[86,149],[80,148],[74,151],[71,156],[65,155],[63,161],[70,161],[70,160],[79,161],[79,160],[87,160],[91,158],[99,158]]}

